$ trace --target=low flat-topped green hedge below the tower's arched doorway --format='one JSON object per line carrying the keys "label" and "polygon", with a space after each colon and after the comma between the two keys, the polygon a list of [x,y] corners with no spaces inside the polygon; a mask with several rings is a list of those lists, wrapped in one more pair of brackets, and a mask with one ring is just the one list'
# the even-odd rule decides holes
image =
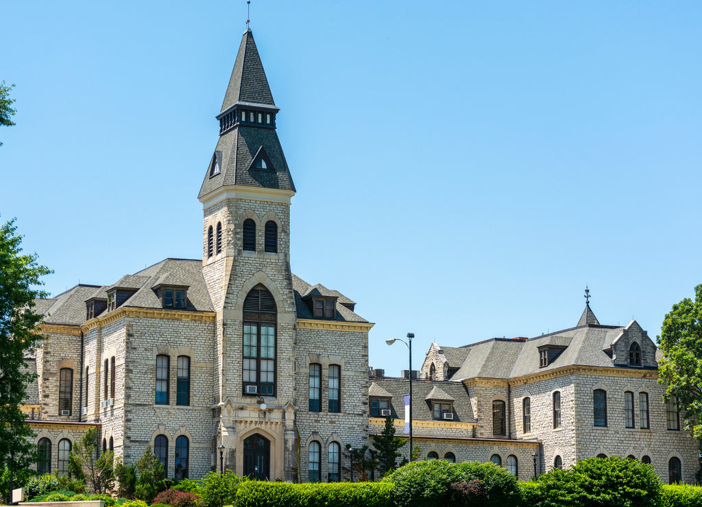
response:
{"label": "low flat-topped green hedge below the tower's arched doorway", "polygon": [[234,507],[391,507],[390,482],[317,482],[289,484],[246,480]]}

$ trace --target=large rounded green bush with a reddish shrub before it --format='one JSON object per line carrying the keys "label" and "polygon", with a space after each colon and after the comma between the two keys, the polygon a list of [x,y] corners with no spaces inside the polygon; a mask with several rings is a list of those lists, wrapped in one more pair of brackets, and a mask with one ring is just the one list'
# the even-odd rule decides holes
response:
{"label": "large rounded green bush with a reddish shrub before it", "polygon": [[493,463],[454,464],[443,459],[414,461],[386,475],[395,483],[395,504],[400,507],[435,507],[451,503],[453,482],[480,480],[484,483],[486,507],[517,506],[522,499],[514,475]]}

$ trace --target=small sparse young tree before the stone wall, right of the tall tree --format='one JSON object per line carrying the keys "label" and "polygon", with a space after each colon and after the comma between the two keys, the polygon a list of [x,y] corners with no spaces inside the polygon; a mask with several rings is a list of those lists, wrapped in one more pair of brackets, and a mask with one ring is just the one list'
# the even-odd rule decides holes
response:
{"label": "small sparse young tree before the stone wall, right of the tall tree", "polygon": [[98,454],[98,430],[90,428],[71,449],[69,468],[77,479],[83,479],[91,492],[105,494],[114,485],[114,452]]}

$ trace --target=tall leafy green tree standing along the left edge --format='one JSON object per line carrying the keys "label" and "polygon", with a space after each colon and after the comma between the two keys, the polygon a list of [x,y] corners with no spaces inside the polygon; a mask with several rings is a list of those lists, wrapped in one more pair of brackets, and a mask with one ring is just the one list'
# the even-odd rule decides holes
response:
{"label": "tall leafy green tree standing along the left edge", "polygon": [[[1,100],[3,92],[0,109]],[[27,440],[34,433],[20,404],[25,386],[37,379],[25,369],[25,354],[44,339],[36,330],[42,317],[32,311],[34,299],[48,295],[37,287],[52,272],[37,263],[37,254],[22,255],[21,243],[15,220],[6,222],[0,228],[0,468],[8,468],[11,475],[37,459],[37,447]]]}

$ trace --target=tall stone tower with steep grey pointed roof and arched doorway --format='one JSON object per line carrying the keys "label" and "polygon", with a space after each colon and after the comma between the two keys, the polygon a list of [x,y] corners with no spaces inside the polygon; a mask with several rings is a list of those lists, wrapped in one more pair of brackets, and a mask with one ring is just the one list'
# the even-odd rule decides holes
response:
{"label": "tall stone tower with steep grey pointed roof and arched doorway", "polygon": [[267,459],[268,480],[296,480],[289,250],[295,187],[276,132],[278,111],[246,29],[198,196],[202,271],[217,312],[214,431],[217,445],[225,446],[227,468],[253,473],[247,446],[257,442],[267,450],[256,451],[256,473]]}

